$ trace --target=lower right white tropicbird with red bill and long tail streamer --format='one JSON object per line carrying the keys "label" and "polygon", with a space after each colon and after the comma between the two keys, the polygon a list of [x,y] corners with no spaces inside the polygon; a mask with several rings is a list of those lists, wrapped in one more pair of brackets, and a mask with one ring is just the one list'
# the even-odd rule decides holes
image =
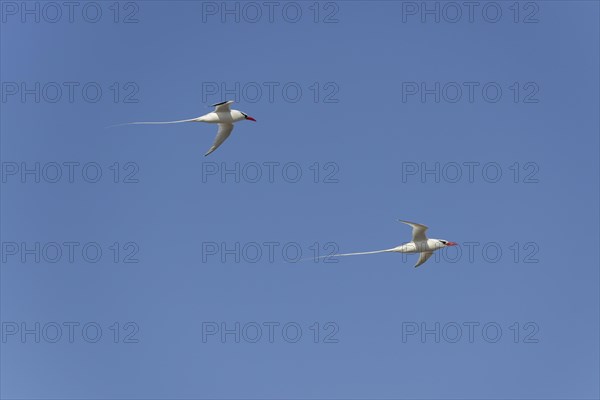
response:
{"label": "lower right white tropicbird with red bill and long tail streamer", "polygon": [[423,264],[433,255],[433,252],[439,249],[443,249],[447,246],[456,246],[458,243],[449,242],[442,239],[428,239],[425,236],[427,227],[425,225],[417,224],[415,222],[399,220],[413,228],[413,238],[411,242],[401,244],[400,246],[394,247],[393,249],[377,250],[377,251],[366,251],[363,253],[345,253],[345,254],[332,254],[319,258],[328,257],[345,257],[345,256],[359,256],[363,254],[377,254],[377,253],[419,253],[419,261],[415,264],[415,268]]}

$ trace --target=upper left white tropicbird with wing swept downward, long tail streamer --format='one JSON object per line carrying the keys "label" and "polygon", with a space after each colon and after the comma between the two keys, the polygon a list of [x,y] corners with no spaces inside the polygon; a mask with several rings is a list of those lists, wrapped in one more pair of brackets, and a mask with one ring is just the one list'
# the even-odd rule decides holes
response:
{"label": "upper left white tropicbird with wing swept downward, long tail streamer", "polygon": [[182,119],[180,121],[165,121],[165,122],[129,122],[126,124],[119,124],[114,126],[122,126],[122,125],[162,125],[162,124],[179,124],[182,122],[206,122],[209,124],[219,124],[219,130],[217,131],[217,137],[210,149],[204,155],[205,157],[219,148],[221,144],[229,137],[231,131],[233,130],[233,124],[238,121],[243,121],[245,119],[249,121],[256,120],[238,110],[232,110],[229,108],[229,105],[233,103],[233,100],[223,101],[221,103],[213,104],[212,107],[215,108],[213,112],[205,114],[198,118],[192,119]]}

